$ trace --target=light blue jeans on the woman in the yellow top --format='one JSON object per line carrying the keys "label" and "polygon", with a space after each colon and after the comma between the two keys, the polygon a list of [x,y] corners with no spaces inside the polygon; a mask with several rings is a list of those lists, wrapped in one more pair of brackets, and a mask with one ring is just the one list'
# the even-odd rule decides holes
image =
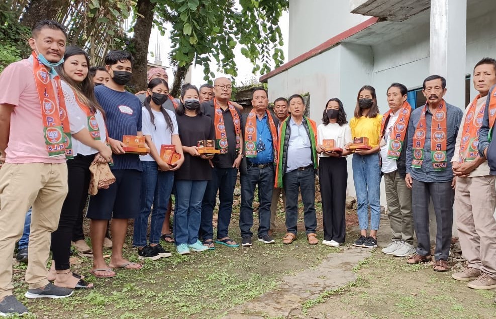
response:
{"label": "light blue jeans on the woman in the yellow top", "polygon": [[380,222],[379,154],[353,154],[352,167],[358,201],[358,225],[360,230],[368,229],[368,207],[370,207],[370,229],[376,231]]}

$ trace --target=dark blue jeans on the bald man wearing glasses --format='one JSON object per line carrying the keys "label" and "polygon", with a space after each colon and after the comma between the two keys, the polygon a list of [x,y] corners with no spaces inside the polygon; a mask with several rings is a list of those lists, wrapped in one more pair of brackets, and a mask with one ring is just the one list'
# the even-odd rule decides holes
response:
{"label": "dark blue jeans on the bald man wearing glasses", "polygon": [[217,218],[217,238],[228,237],[231,213],[233,211],[234,187],[236,186],[237,168],[217,168],[212,170],[212,180],[209,180],[202,203],[202,224],[200,238],[213,239],[214,227],[212,218],[216,204],[215,197],[219,190],[219,212]]}

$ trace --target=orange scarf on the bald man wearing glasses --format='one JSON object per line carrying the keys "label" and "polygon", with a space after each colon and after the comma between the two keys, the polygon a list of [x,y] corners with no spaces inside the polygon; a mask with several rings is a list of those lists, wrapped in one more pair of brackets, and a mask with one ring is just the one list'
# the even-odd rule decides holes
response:
{"label": "orange scarf on the bald man wearing glasses", "polygon": [[[236,134],[236,151],[241,149],[241,125],[239,121],[239,115],[231,102],[228,102],[228,108],[231,112],[234,122],[234,133]],[[224,125],[224,116],[222,115],[221,105],[214,97],[214,128],[215,128],[215,143],[217,148],[220,150],[220,154],[226,154],[228,150],[227,145],[227,134],[226,127]]]}

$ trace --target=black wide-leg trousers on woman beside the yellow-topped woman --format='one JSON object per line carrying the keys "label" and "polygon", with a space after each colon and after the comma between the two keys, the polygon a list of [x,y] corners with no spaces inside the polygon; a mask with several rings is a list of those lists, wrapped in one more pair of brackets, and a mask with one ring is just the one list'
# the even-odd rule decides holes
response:
{"label": "black wide-leg trousers on woman beside the yellow-topped woman", "polygon": [[321,157],[319,182],[322,197],[324,240],[344,243],[346,238],[346,157]]}

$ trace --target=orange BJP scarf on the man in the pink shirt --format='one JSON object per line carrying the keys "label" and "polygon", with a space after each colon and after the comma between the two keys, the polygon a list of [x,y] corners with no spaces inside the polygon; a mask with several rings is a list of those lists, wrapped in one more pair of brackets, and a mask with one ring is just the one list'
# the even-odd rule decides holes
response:
{"label": "orange BJP scarf on the man in the pink shirt", "polygon": [[64,93],[60,85],[60,77],[53,78],[56,87],[50,79],[50,73],[45,65],[38,61],[35,52],[33,56],[33,74],[36,90],[40,98],[41,116],[43,120],[43,135],[48,156],[65,155],[67,159],[74,156],[72,151],[69,117],[65,108]]}

